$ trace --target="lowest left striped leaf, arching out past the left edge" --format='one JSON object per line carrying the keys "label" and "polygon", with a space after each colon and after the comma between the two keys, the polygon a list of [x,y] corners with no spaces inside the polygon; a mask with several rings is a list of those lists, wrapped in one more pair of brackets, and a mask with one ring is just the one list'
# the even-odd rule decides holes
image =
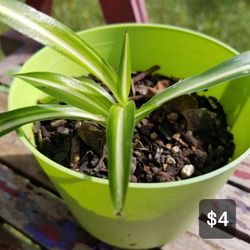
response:
{"label": "lowest left striped leaf, arching out past the left edge", "polygon": [[0,136],[30,122],[58,118],[106,122],[103,116],[94,115],[67,105],[37,105],[0,113]]}

